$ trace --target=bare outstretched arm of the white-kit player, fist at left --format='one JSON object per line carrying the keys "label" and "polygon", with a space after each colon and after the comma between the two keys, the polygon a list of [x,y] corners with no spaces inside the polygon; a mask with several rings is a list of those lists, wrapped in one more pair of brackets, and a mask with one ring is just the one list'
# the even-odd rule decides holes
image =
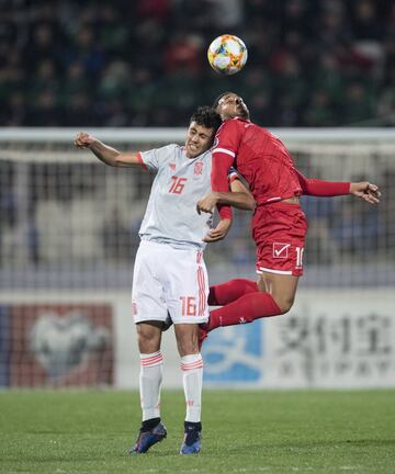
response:
{"label": "bare outstretched arm of the white-kit player, fist at left", "polygon": [[121,153],[84,132],[77,134],[75,145],[78,148],[89,148],[100,159],[100,161],[103,161],[109,166],[142,166],[142,159],[138,151]]}

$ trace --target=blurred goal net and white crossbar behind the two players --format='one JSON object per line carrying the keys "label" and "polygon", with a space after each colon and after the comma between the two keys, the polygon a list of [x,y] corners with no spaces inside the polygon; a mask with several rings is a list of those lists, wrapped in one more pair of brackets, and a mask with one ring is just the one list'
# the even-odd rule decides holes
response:
{"label": "blurred goal net and white crossbar behind the two players", "polygon": [[[123,150],[182,143],[183,131],[95,131]],[[309,222],[307,286],[394,283],[395,139],[391,132],[279,131],[307,177],[380,184],[380,206],[351,196],[304,198]],[[138,228],[153,177],[115,169],[74,147],[75,131],[2,134],[0,140],[0,285],[22,289],[128,289]],[[212,281],[253,278],[249,213],[208,246]]]}

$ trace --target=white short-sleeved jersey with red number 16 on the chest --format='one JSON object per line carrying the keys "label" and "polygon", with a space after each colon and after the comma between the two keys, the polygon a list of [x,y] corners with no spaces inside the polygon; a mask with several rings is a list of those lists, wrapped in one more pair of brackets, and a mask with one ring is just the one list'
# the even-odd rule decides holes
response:
{"label": "white short-sleeved jersey with red number 16 on the chest", "polygon": [[142,151],[140,158],[157,172],[139,229],[142,240],[203,249],[212,215],[199,215],[196,203],[211,192],[211,150],[188,158],[184,147],[172,144]]}

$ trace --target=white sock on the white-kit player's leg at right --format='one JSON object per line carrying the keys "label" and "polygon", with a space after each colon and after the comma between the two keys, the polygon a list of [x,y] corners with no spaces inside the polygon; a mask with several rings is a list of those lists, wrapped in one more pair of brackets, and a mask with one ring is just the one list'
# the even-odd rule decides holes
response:
{"label": "white sock on the white-kit player's leg at right", "polygon": [[187,403],[185,421],[201,420],[203,359],[200,353],[181,358],[182,382]]}

